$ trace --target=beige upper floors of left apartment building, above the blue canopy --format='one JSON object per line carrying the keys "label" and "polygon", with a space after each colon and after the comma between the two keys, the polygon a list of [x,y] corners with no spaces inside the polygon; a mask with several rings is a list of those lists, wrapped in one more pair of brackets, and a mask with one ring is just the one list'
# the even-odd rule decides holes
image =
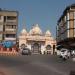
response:
{"label": "beige upper floors of left apartment building, above the blue canopy", "polygon": [[18,12],[0,9],[0,42],[11,40],[16,43]]}

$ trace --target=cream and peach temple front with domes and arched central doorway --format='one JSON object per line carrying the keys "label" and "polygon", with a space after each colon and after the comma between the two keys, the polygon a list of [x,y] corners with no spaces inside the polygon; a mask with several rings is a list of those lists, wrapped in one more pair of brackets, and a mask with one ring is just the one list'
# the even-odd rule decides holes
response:
{"label": "cream and peach temple front with domes and arched central doorway", "polygon": [[19,35],[19,48],[25,44],[27,48],[34,54],[44,53],[45,50],[50,50],[53,54],[53,47],[56,46],[56,40],[52,37],[49,30],[44,34],[38,24],[35,24],[29,32],[23,29]]}

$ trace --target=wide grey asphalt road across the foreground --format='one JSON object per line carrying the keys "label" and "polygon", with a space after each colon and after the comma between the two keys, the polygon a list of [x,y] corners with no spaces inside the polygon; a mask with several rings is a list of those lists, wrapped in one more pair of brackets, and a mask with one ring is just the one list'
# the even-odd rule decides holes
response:
{"label": "wide grey asphalt road across the foreground", "polygon": [[71,70],[75,62],[53,55],[0,56],[0,75],[69,75]]}

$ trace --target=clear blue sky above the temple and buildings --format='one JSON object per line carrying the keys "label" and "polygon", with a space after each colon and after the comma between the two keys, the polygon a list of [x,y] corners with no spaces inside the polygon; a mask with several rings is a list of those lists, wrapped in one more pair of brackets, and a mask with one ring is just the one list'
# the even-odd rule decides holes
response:
{"label": "clear blue sky above the temple and buildings", "polygon": [[58,19],[74,3],[75,0],[0,0],[0,8],[19,12],[18,35],[24,26],[29,32],[33,24],[39,24],[42,32],[50,30],[56,37]]}

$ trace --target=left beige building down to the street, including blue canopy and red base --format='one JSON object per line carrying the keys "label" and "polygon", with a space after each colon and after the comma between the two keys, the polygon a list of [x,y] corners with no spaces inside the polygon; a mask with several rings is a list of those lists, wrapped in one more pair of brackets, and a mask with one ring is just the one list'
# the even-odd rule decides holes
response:
{"label": "left beige building down to the street, including blue canopy and red base", "polygon": [[0,9],[0,55],[17,54],[18,11]]}

